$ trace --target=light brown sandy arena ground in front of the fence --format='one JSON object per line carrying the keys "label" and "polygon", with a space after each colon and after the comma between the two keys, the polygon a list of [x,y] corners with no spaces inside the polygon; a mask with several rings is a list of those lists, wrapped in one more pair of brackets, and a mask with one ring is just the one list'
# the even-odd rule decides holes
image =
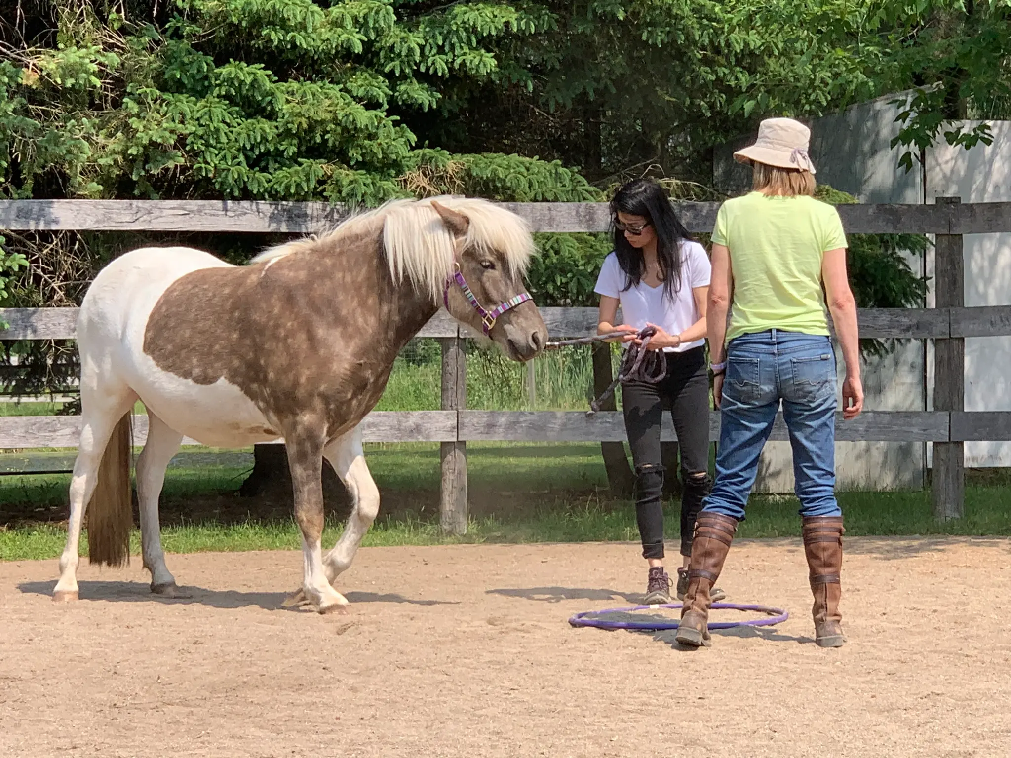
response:
{"label": "light brown sandy arena ground in front of the fence", "polygon": [[297,553],[170,556],[188,600],[85,562],[69,605],[55,561],[0,563],[0,755],[1011,755],[1011,541],[847,539],[838,650],[797,540],[735,543],[720,581],[776,628],[570,627],[637,601],[637,556],[364,549],[328,617],[280,608]]}

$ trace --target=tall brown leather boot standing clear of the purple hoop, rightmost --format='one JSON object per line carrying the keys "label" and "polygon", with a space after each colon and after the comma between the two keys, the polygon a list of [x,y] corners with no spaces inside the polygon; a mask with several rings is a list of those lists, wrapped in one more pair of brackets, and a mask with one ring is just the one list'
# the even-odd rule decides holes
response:
{"label": "tall brown leather boot standing clear of the purple hoop, rightmost", "polygon": [[812,614],[815,620],[815,644],[822,648],[838,648],[846,638],[842,634],[839,598],[842,585],[841,515],[817,515],[804,519],[804,553],[811,572],[811,592],[815,596]]}

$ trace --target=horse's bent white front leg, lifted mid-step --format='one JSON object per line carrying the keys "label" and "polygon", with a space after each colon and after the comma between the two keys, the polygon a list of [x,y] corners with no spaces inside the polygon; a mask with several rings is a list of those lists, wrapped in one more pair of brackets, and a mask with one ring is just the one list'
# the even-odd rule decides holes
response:
{"label": "horse's bent white front leg, lifted mid-step", "polygon": [[338,574],[351,566],[362,538],[379,513],[379,488],[365,464],[361,427],[356,427],[328,445],[324,449],[324,456],[348,488],[352,501],[351,515],[344,534],[324,559],[327,578],[333,584]]}

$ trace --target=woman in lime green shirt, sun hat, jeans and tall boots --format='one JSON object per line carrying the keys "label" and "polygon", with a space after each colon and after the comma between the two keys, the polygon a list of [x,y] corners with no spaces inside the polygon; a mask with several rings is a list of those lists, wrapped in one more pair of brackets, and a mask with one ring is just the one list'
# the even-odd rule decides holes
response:
{"label": "woman in lime green shirt, sun hat, jeans and tall boots", "polygon": [[846,364],[845,418],[860,412],[863,389],[846,238],[835,208],[813,197],[810,136],[790,118],[762,121],[755,144],[734,156],[751,164],[754,191],[728,200],[717,214],[708,323],[722,425],[716,482],[696,522],[677,631],[685,645],[709,644],[710,590],[744,519],[758,456],[780,401],[794,451],[816,642],[844,642],[842,511],[834,491],[836,367],[828,312]]}

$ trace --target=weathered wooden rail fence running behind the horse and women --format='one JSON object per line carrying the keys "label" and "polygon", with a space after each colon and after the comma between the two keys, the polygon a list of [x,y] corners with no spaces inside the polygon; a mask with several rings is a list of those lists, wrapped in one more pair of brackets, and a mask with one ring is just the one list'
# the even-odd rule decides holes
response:
{"label": "weathered wooden rail fence running behind the horse and women", "polygon": [[[530,220],[536,231],[605,231],[610,224],[604,203],[504,203]],[[687,228],[712,229],[716,203],[675,203]],[[343,206],[327,203],[204,200],[0,200],[0,229],[94,231],[318,232],[347,216]],[[839,214],[848,233],[932,233],[936,243],[937,307],[863,309],[860,336],[935,341],[934,410],[866,411],[851,421],[840,419],[839,440],[930,442],[934,444],[933,498],[939,518],[955,517],[963,507],[966,441],[1011,440],[1011,412],[963,410],[964,339],[1011,336],[1011,306],[963,307],[961,235],[1011,231],[1011,203],[961,204],[938,198],[935,205],[842,205]],[[595,309],[542,308],[553,338],[583,337],[595,330]],[[0,340],[72,340],[76,308],[9,308],[0,318],[9,327]],[[363,422],[372,442],[442,444],[442,525],[466,530],[467,460],[471,441],[625,440],[621,414],[602,411],[587,418],[581,411],[483,411],[466,407],[466,335],[445,312],[438,313],[420,337],[442,343],[442,410],[373,412]],[[147,418],[135,433],[147,436]],[[719,436],[719,414],[710,418],[710,436]],[[0,448],[77,445],[75,416],[0,417]],[[674,440],[669,420],[663,439]],[[773,440],[787,439],[782,417]],[[186,440],[184,444],[195,444]]]}

